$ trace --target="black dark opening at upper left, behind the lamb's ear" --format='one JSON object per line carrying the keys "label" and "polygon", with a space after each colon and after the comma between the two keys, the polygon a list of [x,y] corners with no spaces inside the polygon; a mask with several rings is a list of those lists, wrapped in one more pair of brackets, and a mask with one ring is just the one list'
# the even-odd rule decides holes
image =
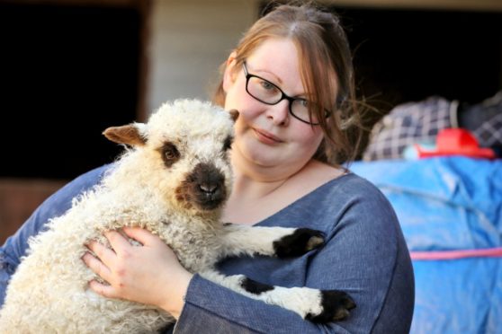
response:
{"label": "black dark opening at upper left, behind the lamb's ear", "polygon": [[0,177],[71,179],[138,119],[141,15],[126,6],[0,4]]}

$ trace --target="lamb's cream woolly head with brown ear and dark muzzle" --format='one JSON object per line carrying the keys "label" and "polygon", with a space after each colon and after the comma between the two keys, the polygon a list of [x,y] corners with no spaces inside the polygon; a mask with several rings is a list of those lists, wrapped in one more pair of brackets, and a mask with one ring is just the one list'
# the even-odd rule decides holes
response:
{"label": "lamb's cream woolly head with brown ear and dark muzzle", "polygon": [[136,147],[132,154],[140,178],[171,205],[208,213],[229,197],[229,148],[237,117],[237,110],[210,102],[177,100],[162,105],[147,124],[110,127],[103,134]]}

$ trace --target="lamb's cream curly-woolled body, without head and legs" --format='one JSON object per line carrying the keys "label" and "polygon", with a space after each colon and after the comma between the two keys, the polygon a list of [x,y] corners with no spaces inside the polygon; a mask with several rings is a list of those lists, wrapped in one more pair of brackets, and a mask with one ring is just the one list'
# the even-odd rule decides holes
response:
{"label": "lamb's cream curly-woolled body, without head and legs", "polygon": [[[55,329],[61,333],[153,332],[172,321],[166,312],[150,305],[105,301],[94,294],[88,289],[94,274],[81,259],[88,251],[85,243],[103,238],[103,231],[124,224],[141,224],[159,233],[176,251],[185,268],[201,271],[214,263],[214,250],[219,246],[215,234],[218,227],[211,228],[202,217],[193,217],[190,224],[184,224],[184,215],[175,216],[158,203],[137,207],[142,195],[150,195],[145,190],[139,189],[132,196],[128,194],[123,202],[119,198],[123,199],[125,194],[120,191],[88,193],[80,205],[52,221],[49,232],[31,242],[31,255],[23,259],[9,286],[1,321],[6,322],[7,327],[0,327],[0,332],[9,329],[31,333],[50,333]],[[104,206],[103,198],[107,198]],[[58,245],[57,250],[54,245]],[[29,293],[13,294],[13,291]],[[14,304],[23,306],[18,309]]]}

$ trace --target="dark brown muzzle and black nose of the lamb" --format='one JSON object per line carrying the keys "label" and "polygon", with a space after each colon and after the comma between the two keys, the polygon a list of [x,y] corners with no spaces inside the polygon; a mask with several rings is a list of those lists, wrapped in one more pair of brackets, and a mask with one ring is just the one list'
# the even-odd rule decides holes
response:
{"label": "dark brown muzzle and black nose of the lamb", "polygon": [[176,198],[188,207],[214,210],[227,199],[225,176],[214,165],[199,163],[176,189]]}

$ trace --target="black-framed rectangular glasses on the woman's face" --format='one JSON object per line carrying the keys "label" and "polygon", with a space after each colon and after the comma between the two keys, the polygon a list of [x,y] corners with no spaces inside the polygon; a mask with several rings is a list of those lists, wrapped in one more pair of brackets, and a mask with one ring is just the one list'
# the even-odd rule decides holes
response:
{"label": "black-framed rectangular glasses on the woman's face", "polygon": [[[242,67],[246,75],[246,92],[255,98],[255,100],[268,105],[274,105],[282,100],[287,100],[290,102],[289,110],[292,117],[310,125],[319,124],[317,115],[310,115],[309,113],[309,106],[312,105],[313,102],[301,98],[292,98],[282,92],[281,88],[272,84],[270,81],[258,75],[251,75],[247,71],[246,62],[242,63]],[[330,114],[331,112],[329,110],[325,110],[326,118],[329,117]]]}

